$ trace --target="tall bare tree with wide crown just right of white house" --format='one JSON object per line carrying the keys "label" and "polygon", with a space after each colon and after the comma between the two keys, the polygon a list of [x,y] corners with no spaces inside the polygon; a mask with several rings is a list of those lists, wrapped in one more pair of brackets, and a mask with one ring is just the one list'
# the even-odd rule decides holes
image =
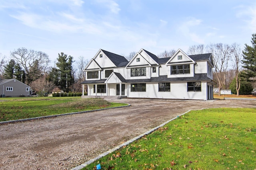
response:
{"label": "tall bare tree with wide crown just right of white house", "polygon": [[210,44],[207,46],[207,51],[212,53],[212,58],[215,66],[215,72],[218,80],[218,96],[220,96],[220,90],[226,80],[226,72],[228,69],[228,62],[230,59],[231,47],[228,44]]}

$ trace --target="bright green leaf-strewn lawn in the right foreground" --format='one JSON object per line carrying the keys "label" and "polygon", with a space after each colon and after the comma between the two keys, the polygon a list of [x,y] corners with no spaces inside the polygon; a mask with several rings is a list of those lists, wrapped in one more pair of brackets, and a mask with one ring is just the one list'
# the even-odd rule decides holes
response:
{"label": "bright green leaf-strewn lawn in the right foreground", "polygon": [[83,170],[256,168],[256,109],[190,111]]}

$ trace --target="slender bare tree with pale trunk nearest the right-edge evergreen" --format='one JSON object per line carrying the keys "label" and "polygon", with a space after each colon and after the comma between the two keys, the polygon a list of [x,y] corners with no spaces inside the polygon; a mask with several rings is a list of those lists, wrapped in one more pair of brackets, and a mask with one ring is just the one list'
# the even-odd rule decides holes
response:
{"label": "slender bare tree with pale trunk nearest the right-edge evergreen", "polygon": [[239,77],[239,73],[242,70],[242,52],[240,45],[237,43],[233,43],[231,45],[232,52],[231,52],[231,60],[232,65],[235,71],[235,77],[236,77],[236,96],[239,96],[239,90],[241,86],[241,78]]}

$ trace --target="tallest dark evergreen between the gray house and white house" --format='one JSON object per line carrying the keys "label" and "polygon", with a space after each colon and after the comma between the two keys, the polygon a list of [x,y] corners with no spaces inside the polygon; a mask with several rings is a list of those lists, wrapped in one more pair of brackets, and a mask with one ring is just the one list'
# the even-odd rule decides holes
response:
{"label": "tallest dark evergreen between the gray house and white house", "polygon": [[62,90],[68,91],[69,87],[74,83],[74,75],[72,69],[73,57],[68,56],[64,53],[58,54],[56,66],[59,72],[58,86]]}

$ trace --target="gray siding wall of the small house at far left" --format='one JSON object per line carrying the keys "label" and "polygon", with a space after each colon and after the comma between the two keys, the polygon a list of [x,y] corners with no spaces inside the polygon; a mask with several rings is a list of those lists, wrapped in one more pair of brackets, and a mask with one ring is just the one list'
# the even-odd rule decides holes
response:
{"label": "gray siding wall of the small house at far left", "polygon": [[[12,91],[6,91],[6,87],[12,87]],[[9,82],[6,82],[4,84],[1,84],[1,94],[4,94],[5,96],[20,96],[25,95],[29,96],[29,86],[26,84],[18,81],[18,80],[11,80]],[[28,92],[26,91],[26,88],[28,89]],[[4,90],[4,93],[3,93]]]}

